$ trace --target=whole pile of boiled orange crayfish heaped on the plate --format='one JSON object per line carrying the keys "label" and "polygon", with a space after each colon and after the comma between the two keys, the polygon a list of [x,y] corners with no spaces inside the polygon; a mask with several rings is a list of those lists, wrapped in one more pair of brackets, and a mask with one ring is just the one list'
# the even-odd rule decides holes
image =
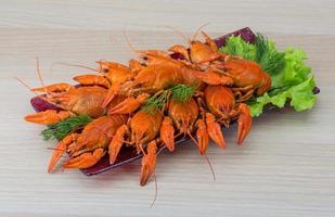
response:
{"label": "whole pile of boiled orange crayfish heaped on the plate", "polygon": [[219,52],[215,41],[201,33],[204,41],[193,37],[186,47],[137,50],[138,59],[128,65],[99,61],[98,74],[74,77],[79,86],[31,89],[61,110],[27,115],[27,122],[52,125],[82,114],[93,119],[56,144],[49,173],[64,153],[69,158],[63,168],[88,168],[106,154],[115,163],[126,145],[143,154],[140,183],[144,186],[154,174],[157,150],[166,146],[173,152],[178,138],[192,138],[205,155],[209,140],[226,148],[221,127],[237,122],[241,145],[252,127],[244,102],[267,92],[271,78],[257,63]]}

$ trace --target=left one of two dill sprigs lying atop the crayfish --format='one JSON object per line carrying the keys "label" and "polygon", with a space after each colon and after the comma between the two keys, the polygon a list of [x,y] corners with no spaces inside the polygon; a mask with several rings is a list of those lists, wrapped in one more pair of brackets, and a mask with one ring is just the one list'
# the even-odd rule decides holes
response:
{"label": "left one of two dill sprigs lying atop the crayfish", "polygon": [[145,101],[142,111],[149,114],[155,114],[157,110],[162,110],[167,101],[168,91],[156,93]]}

